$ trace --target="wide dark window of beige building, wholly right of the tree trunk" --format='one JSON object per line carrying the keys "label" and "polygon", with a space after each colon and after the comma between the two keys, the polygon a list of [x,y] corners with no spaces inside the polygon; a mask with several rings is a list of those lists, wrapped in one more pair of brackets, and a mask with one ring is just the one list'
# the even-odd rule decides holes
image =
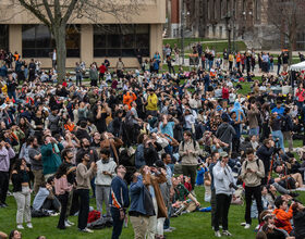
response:
{"label": "wide dark window of beige building, wholly right of the tree trunk", "polygon": [[94,56],[149,56],[149,25],[95,25]]}

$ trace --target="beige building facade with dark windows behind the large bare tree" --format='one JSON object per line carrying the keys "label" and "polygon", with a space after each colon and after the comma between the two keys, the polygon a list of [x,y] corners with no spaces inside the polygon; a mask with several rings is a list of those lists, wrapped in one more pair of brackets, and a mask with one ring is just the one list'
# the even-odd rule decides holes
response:
{"label": "beige building facade with dark windows behind the large bare tree", "polygon": [[[15,14],[17,12],[12,10],[13,16],[9,20],[0,15],[0,49],[17,51],[26,61],[36,59],[44,67],[51,67],[56,45],[50,30],[30,13]],[[126,18],[117,20],[107,14],[100,18],[100,22],[74,18],[66,27],[66,67],[74,67],[77,61],[100,64],[106,56],[110,66],[121,56],[126,67],[137,67],[137,49],[144,58],[162,51],[164,0],[146,0]]]}

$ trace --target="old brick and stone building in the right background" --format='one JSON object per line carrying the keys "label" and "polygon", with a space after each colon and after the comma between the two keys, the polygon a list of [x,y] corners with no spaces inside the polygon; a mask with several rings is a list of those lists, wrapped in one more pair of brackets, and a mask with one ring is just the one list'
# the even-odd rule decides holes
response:
{"label": "old brick and stone building in the right background", "polygon": [[[167,0],[169,1],[169,37],[180,36],[180,29],[188,30],[186,37],[210,39],[244,40],[248,48],[279,49],[286,47],[285,37],[281,36],[270,18],[269,3],[272,0]],[[302,1],[302,0],[301,0]],[[290,2],[284,0],[283,2]],[[171,8],[170,8],[171,7]],[[184,16],[184,17],[183,17]],[[281,20],[280,20],[281,18]],[[279,21],[286,21],[284,16]],[[280,39],[280,40],[279,40]],[[297,29],[294,48],[305,49],[305,32]]]}

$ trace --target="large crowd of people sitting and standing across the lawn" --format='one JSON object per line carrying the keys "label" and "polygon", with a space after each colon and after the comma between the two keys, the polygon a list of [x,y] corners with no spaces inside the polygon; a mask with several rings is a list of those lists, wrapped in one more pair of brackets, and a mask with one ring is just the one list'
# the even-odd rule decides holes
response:
{"label": "large crowd of people sitting and standing across the lawn", "polygon": [[[135,239],[162,239],[179,230],[173,217],[195,211],[210,211],[216,237],[232,236],[230,205],[243,201],[241,223],[249,229],[257,218],[257,238],[305,237],[296,192],[304,190],[305,154],[293,146],[304,138],[304,73],[294,90],[286,53],[274,75],[265,52],[220,56],[196,46],[202,64],[176,73],[176,46],[162,53],[170,72],[159,71],[158,52],[139,56],[136,71],[122,59],[112,70],[106,59],[90,64],[86,84],[84,62],[58,83],[56,59],[46,71],[1,51],[0,212],[16,207],[16,229],[0,238],[21,238],[25,226],[35,228],[32,217],[58,216],[53,227],[65,229],[77,215],[83,232],[111,225],[115,239],[130,219]],[[199,187],[205,199],[196,197]]]}

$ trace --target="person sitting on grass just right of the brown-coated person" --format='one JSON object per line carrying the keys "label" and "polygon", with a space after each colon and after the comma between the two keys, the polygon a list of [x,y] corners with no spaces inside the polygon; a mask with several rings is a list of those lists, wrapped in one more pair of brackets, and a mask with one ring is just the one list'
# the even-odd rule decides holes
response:
{"label": "person sitting on grass just right of the brown-coated person", "polygon": [[[182,185],[181,177],[173,177],[172,186],[174,189],[173,216],[179,216],[184,211],[186,213],[193,212],[200,205],[197,199]],[[186,198],[188,199],[186,200]]]}

